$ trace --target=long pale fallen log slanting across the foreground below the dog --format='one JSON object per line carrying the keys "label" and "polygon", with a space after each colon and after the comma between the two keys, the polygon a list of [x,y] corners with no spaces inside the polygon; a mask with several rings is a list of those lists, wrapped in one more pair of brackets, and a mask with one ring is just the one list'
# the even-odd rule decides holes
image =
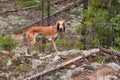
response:
{"label": "long pale fallen log slanting across the foreground below the dog", "polygon": [[56,66],[53,66],[52,68],[50,69],[46,69],[42,72],[39,72],[37,74],[34,74],[34,75],[31,75],[30,77],[26,77],[24,80],[35,80],[36,78],[40,78],[42,77],[43,75],[46,75],[50,72],[53,72],[53,71],[56,71],[56,70],[60,70],[62,68],[65,68],[66,66],[69,66],[70,64],[73,64],[83,58],[86,58],[88,56],[90,56],[91,54],[95,54],[95,53],[99,53],[100,52],[100,49],[92,49],[92,50],[88,50],[88,51],[83,51],[83,55],[80,55],[76,58],[73,58],[69,61],[66,61],[62,64],[59,64],[59,65],[56,65]]}

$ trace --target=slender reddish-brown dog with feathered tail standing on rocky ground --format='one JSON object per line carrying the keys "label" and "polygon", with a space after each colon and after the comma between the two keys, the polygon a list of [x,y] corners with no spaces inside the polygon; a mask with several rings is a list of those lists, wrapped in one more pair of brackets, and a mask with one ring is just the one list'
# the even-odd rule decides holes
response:
{"label": "slender reddish-brown dog with feathered tail standing on rocky ground", "polygon": [[65,32],[65,22],[62,20],[59,20],[56,22],[56,25],[54,26],[37,26],[37,27],[31,27],[27,31],[23,32],[22,34],[12,34],[12,39],[15,41],[24,39],[24,36],[26,36],[27,40],[29,41],[28,44],[25,47],[25,53],[28,55],[29,49],[32,45],[35,44],[35,37],[37,34],[43,35],[48,37],[48,40],[51,41],[54,49],[56,52],[58,52],[55,44],[55,40],[59,34],[59,32]]}

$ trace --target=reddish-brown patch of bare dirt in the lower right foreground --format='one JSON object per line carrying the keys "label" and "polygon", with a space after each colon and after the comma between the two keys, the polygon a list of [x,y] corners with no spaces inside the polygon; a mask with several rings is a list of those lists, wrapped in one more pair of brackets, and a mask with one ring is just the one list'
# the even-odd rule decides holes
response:
{"label": "reddish-brown patch of bare dirt in the lower right foreground", "polygon": [[99,66],[94,70],[86,70],[75,77],[75,80],[97,80],[102,76],[116,76],[118,72],[108,66]]}

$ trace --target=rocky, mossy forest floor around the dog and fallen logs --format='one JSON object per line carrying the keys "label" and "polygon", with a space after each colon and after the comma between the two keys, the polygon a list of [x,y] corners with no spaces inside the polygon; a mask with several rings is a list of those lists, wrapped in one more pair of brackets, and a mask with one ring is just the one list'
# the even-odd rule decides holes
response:
{"label": "rocky, mossy forest floor around the dog and fallen logs", "polygon": [[[7,0],[6,0],[7,1]],[[16,5],[16,2],[8,2],[7,7],[0,4],[1,10],[9,10]],[[11,7],[10,7],[11,6]],[[59,5],[60,6],[60,5]],[[63,5],[62,5],[63,6]],[[56,5],[58,7],[58,5]],[[61,8],[58,7],[58,9]],[[56,9],[56,10],[58,10]],[[81,15],[72,14],[72,11],[82,9],[75,8],[71,10],[71,14],[62,13],[59,17],[51,19],[51,24],[55,24],[56,20],[64,19],[67,23],[66,32],[60,35],[60,39],[65,39],[67,45],[58,45],[59,54],[50,52],[50,45],[47,46],[45,52],[42,52],[38,42],[37,49],[33,47],[32,56],[24,56],[20,43],[11,51],[0,50],[0,80],[23,80],[24,78],[49,69],[57,64],[63,63],[82,55],[87,50],[74,49],[74,43],[79,40],[80,35],[75,31],[76,26],[81,24]],[[80,14],[81,14],[80,13]],[[24,28],[38,21],[41,17],[39,10],[18,11],[9,14],[0,14],[0,29],[2,35],[12,34],[18,28]],[[19,32],[22,32],[19,31]],[[62,36],[62,37],[61,37]],[[49,43],[47,43],[49,44]],[[61,42],[60,44],[64,44]],[[38,50],[39,48],[39,50]],[[101,53],[99,55],[91,55],[86,59],[82,59],[64,69],[47,74],[38,80],[120,80],[120,59]]]}

